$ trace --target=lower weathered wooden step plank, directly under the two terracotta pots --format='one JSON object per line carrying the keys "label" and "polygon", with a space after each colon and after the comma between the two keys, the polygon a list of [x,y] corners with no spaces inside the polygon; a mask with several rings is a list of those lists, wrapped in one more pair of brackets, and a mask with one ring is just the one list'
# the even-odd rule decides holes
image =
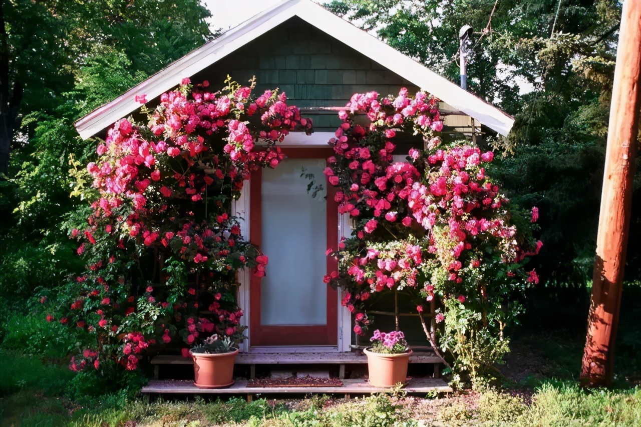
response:
{"label": "lower weathered wooden step plank, directly under the two terracotta pots", "polygon": [[[342,387],[251,387],[247,380],[237,380],[226,389],[199,389],[190,380],[151,380],[143,393],[160,394],[305,394],[305,393],[374,393],[387,389],[372,387],[367,380],[342,380]],[[408,393],[427,393],[431,391],[451,392],[452,389],[438,378],[412,378],[404,387]]]}

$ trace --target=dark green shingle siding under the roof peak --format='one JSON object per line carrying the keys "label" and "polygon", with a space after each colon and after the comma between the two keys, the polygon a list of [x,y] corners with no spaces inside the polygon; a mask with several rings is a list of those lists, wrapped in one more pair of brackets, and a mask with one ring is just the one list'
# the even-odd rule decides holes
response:
{"label": "dark green shingle siding under the roof peak", "polygon": [[[357,46],[356,46],[357,47]],[[200,72],[192,81],[222,86],[256,76],[256,93],[276,88],[301,108],[344,106],[354,93],[396,94],[419,88],[337,39],[294,17]],[[335,131],[336,113],[306,113],[315,131]]]}

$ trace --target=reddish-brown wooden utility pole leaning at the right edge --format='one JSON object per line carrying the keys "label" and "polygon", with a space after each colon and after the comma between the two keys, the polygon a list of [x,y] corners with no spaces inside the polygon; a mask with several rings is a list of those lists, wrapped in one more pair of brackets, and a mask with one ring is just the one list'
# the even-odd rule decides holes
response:
{"label": "reddish-brown wooden utility pole leaning at the right edge", "polygon": [[623,4],[612,88],[592,301],[581,384],[610,385],[632,203],[641,71],[641,0]]}

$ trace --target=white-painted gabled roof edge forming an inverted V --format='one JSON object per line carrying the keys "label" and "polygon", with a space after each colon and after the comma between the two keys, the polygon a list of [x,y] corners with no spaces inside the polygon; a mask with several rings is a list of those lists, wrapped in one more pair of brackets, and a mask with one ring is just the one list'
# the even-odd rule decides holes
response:
{"label": "white-painted gabled roof edge forming an inverted V", "polygon": [[147,95],[147,99],[154,99],[178,85],[183,77],[194,76],[197,72],[294,16],[354,47],[383,67],[455,109],[479,120],[497,133],[507,135],[512,129],[514,123],[512,117],[388,46],[367,31],[357,28],[311,0],[285,0],[207,42],[146,81],[129,89],[112,102],[92,111],[76,122],[76,130],[82,138],[89,138],[99,133],[119,118],[125,117],[140,107],[140,104],[135,102],[135,95]]}

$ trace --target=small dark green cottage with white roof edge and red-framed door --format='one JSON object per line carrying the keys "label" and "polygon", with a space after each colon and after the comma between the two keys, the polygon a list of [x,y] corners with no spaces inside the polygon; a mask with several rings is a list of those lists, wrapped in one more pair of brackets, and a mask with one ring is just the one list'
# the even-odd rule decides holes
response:
{"label": "small dark green cottage with white roof edge and red-framed door", "polygon": [[444,134],[476,138],[483,129],[506,135],[513,118],[319,4],[287,0],[96,109],[76,129],[83,138],[101,134],[140,107],[136,95],[153,102],[183,77],[222,87],[228,75],[240,83],[256,76],[257,93],[278,87],[315,129],[312,136],[288,135],[282,143],[287,159],[254,174],[233,208],[244,218],[246,239],[269,255],[267,277],[240,273],[238,303],[249,326],[242,350],[349,351],[351,315],[340,305],[340,291],[322,281],[335,269],[326,249],[349,236],[348,218],[338,214],[322,174],[331,155],[327,142],[340,124],[337,109],[356,92],[387,95],[406,87],[440,99]]}

